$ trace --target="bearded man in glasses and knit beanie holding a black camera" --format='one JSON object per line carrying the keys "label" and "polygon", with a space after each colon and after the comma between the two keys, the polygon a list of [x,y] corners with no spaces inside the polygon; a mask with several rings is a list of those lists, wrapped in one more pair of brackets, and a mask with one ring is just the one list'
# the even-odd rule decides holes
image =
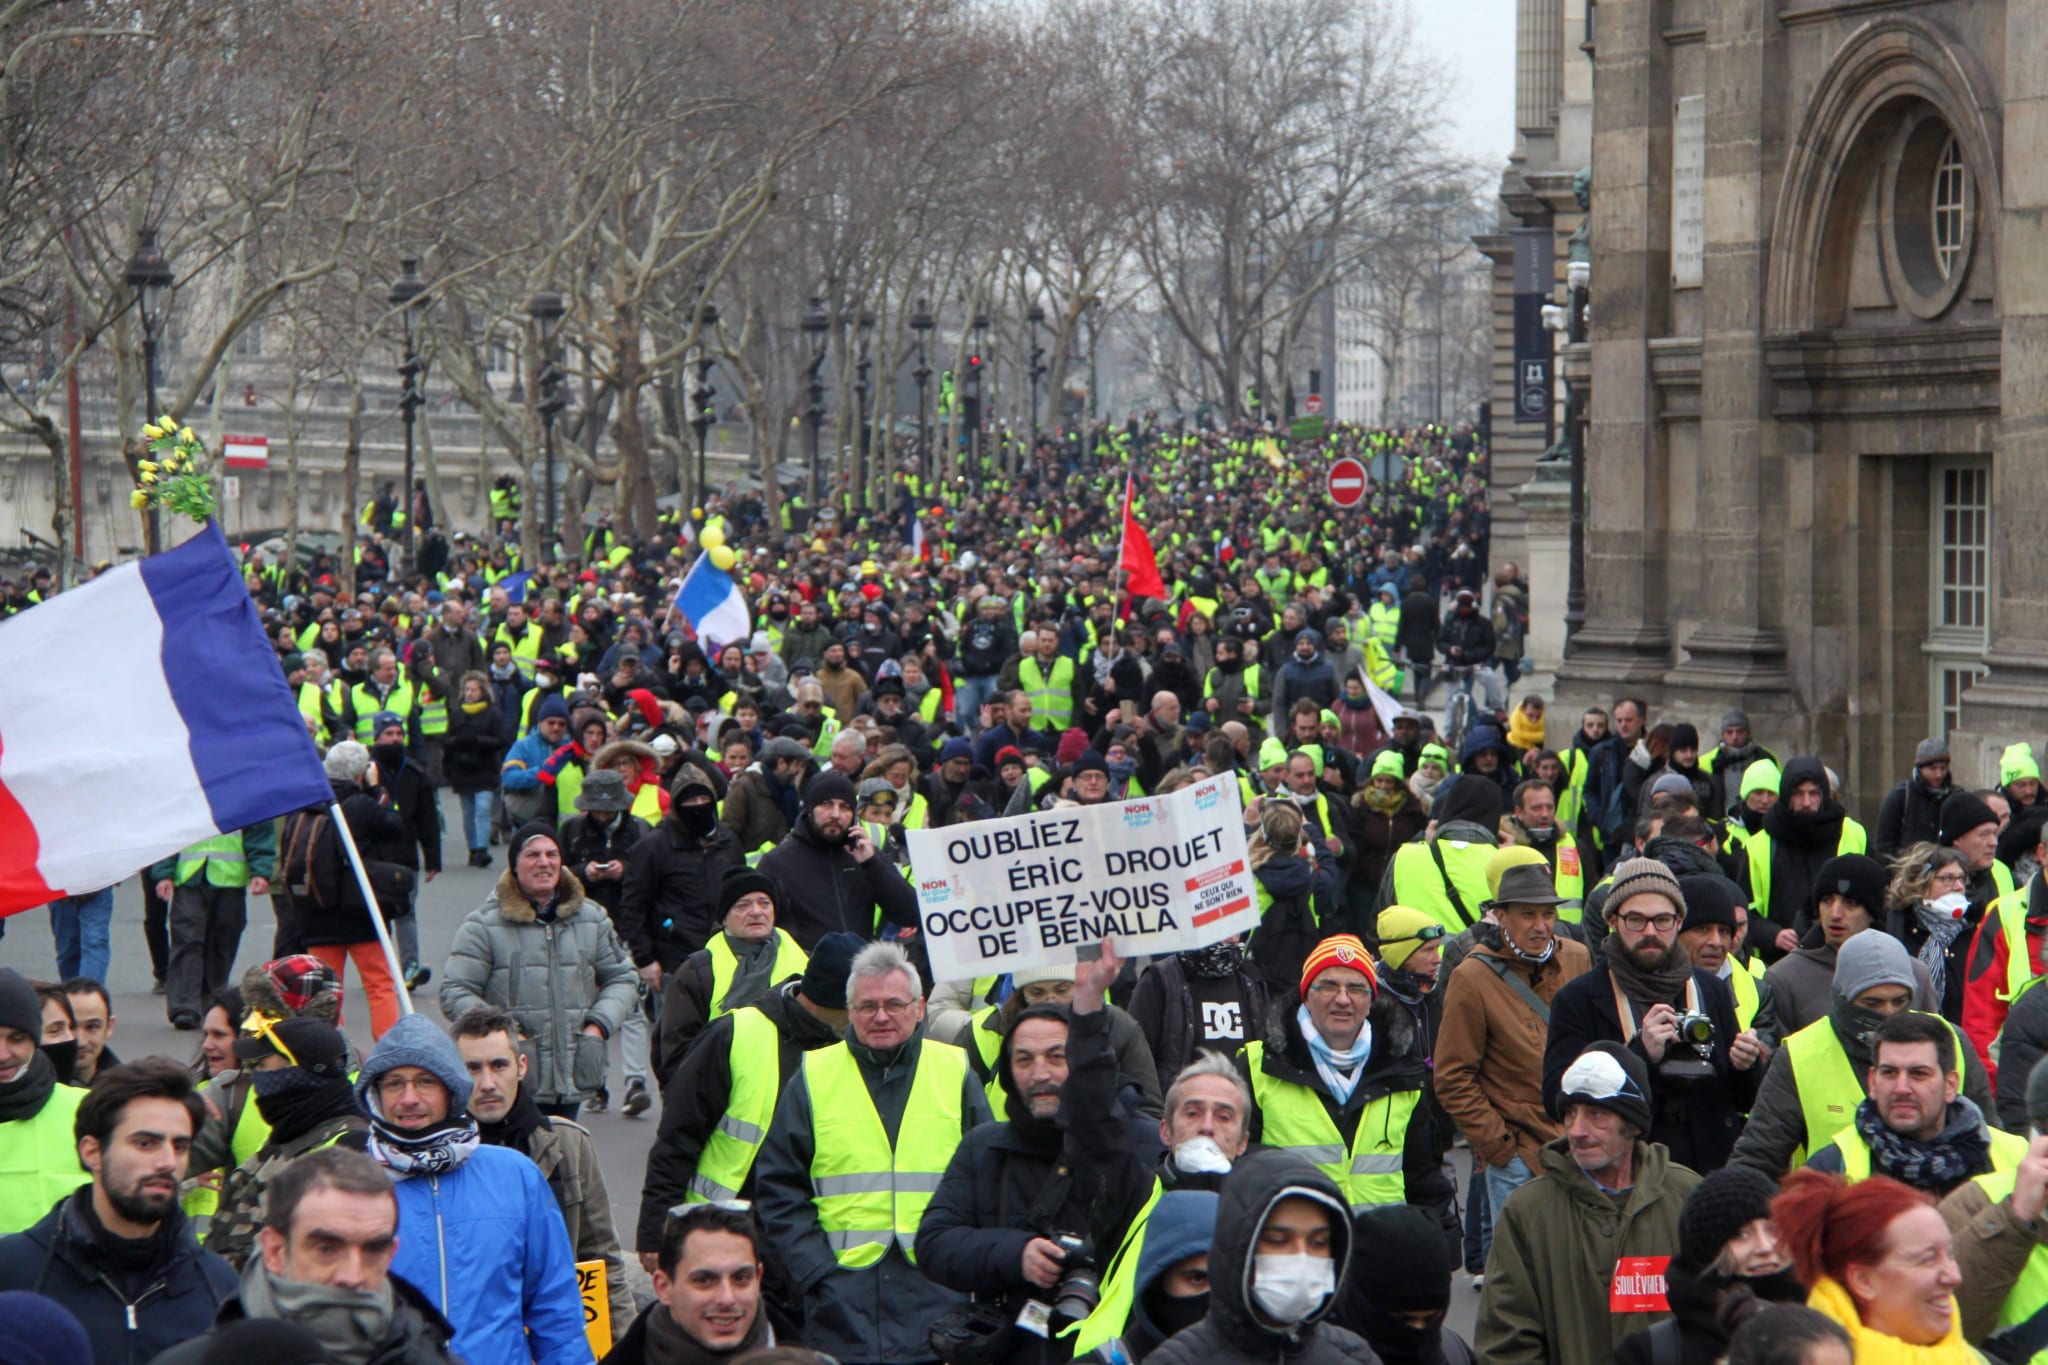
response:
{"label": "bearded man in glasses and knit beanie holding a black camera", "polygon": [[1651,1072],[1645,1138],[1683,1166],[1716,1171],[1743,1134],[1769,1050],[1737,1025],[1729,982],[1696,968],[1679,943],[1686,896],[1669,868],[1651,857],[1616,868],[1608,925],[1593,970],[1550,1001],[1544,1105],[1556,1109],[1565,1070],[1591,1044],[1624,1044]]}

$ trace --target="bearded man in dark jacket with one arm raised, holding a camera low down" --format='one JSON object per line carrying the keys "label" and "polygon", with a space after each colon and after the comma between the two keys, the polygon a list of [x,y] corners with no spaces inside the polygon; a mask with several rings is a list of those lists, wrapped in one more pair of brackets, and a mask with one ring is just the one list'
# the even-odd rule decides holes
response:
{"label": "bearded man in dark jacket with one arm raised, holding a camera low down", "polygon": [[1120,966],[1104,943],[1075,970],[1071,1015],[1018,1013],[999,1070],[1010,1117],[961,1140],[918,1228],[920,1269],[997,1310],[987,1355],[948,1351],[956,1365],[1073,1359],[1061,1328],[1094,1312],[1110,1252],[1151,1197],[1151,1164],[1135,1150],[1141,1119],[1116,1099],[1104,995]]}

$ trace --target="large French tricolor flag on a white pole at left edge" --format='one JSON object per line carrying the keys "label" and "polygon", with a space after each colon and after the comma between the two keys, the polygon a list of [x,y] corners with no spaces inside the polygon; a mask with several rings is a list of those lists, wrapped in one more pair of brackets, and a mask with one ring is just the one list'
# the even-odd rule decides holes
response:
{"label": "large French tricolor flag on a white pole at left edge", "polygon": [[0,915],[332,800],[213,522],[0,622]]}

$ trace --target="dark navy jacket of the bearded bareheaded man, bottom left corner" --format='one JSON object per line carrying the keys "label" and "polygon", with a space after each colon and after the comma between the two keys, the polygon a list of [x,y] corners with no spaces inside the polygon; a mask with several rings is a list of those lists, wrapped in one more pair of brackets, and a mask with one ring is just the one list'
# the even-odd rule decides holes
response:
{"label": "dark navy jacket of the bearded bareheaded man, bottom left corner", "polygon": [[61,1199],[33,1228],[0,1238],[0,1289],[25,1289],[72,1310],[92,1338],[94,1365],[143,1365],[205,1332],[236,1291],[236,1271],[201,1250],[172,1205],[156,1238],[156,1259],[129,1269],[106,1254],[98,1220],[80,1203],[92,1187]]}

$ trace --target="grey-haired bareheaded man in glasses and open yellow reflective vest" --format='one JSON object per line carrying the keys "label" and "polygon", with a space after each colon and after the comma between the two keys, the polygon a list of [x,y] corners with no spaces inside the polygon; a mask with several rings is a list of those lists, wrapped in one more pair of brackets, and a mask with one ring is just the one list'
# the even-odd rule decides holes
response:
{"label": "grey-haired bareheaded man in glasses and open yellow reflective vest", "polygon": [[965,1295],[918,1269],[918,1222],[989,1103],[967,1054],[924,1036],[895,943],[854,956],[846,1013],[848,1040],[807,1052],[782,1091],[754,1212],[805,1304],[805,1345],[848,1365],[930,1361],[926,1328]]}

